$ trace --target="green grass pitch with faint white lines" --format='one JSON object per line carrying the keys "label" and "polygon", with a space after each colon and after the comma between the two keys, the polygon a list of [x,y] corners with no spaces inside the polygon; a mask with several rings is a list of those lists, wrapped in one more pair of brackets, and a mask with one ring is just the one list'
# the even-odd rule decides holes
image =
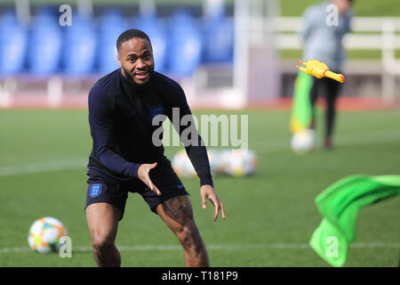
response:
{"label": "green grass pitch with faint white lines", "polygon": [[[240,114],[249,115],[260,168],[252,177],[214,178],[227,219],[213,222],[210,203],[201,208],[198,179],[183,179],[211,265],[329,266],[308,247],[321,221],[314,199],[348,175],[399,175],[400,112],[340,112],[335,149],[304,156],[290,150],[289,112]],[[321,118],[318,134],[323,126]],[[84,215],[91,144],[85,110],[0,111],[0,266],[95,266]],[[400,197],[361,209],[346,266],[397,266],[399,214]],[[28,248],[28,228],[42,216],[65,224],[71,258]],[[178,240],[139,194],[127,201],[116,244],[124,266],[184,265]]]}

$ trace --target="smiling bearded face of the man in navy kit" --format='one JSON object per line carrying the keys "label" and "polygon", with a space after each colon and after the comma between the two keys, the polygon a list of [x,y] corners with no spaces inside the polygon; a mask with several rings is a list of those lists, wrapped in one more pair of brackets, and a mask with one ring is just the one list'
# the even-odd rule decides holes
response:
{"label": "smiling bearded face of the man in navy kit", "polygon": [[154,70],[154,58],[147,39],[133,37],[125,41],[119,47],[117,58],[124,77],[139,85],[148,82]]}

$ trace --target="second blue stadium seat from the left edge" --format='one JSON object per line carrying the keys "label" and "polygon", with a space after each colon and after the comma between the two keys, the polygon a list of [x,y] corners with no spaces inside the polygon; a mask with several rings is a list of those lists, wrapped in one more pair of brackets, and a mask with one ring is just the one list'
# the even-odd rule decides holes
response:
{"label": "second blue stadium seat from the left edge", "polygon": [[28,68],[34,74],[51,74],[60,68],[61,32],[53,12],[43,9],[32,22],[28,45]]}

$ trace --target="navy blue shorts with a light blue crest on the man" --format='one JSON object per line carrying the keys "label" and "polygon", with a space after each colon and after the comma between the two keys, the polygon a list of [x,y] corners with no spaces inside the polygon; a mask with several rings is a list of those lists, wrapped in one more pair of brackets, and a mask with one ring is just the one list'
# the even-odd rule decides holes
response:
{"label": "navy blue shorts with a light blue crest on the man", "polygon": [[185,186],[175,174],[171,165],[158,164],[149,172],[151,181],[156,185],[161,196],[151,191],[145,183],[138,178],[118,180],[101,171],[89,167],[86,191],[86,204],[84,209],[93,203],[105,202],[121,211],[120,220],[124,216],[124,208],[128,192],[137,192],[148,203],[148,207],[156,213],[156,207],[167,199],[180,195],[188,195]]}

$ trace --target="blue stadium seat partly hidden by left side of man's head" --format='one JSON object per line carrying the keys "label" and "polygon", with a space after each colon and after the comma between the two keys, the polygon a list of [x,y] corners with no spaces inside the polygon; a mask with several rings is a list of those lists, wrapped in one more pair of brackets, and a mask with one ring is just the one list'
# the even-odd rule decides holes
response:
{"label": "blue stadium seat partly hidden by left side of man's head", "polygon": [[101,17],[98,30],[97,68],[107,74],[119,68],[116,59],[116,39],[127,29],[126,19],[117,9],[106,11]]}

